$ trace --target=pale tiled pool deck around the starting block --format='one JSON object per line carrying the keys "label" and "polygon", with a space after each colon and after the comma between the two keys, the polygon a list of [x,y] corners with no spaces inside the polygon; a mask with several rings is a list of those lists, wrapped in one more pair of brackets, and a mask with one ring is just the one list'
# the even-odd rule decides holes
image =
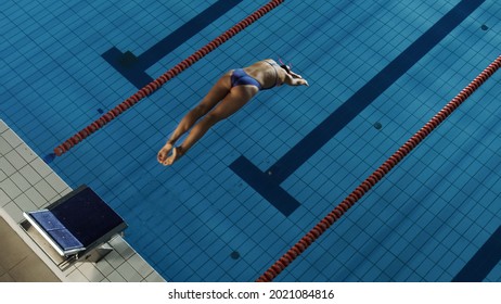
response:
{"label": "pale tiled pool deck around the starting block", "polygon": [[[120,236],[98,263],[61,270],[20,226],[23,212],[42,208],[73,189],[0,119],[0,216],[63,282],[164,282]],[[127,230],[126,230],[127,233]],[[1,246],[0,240],[0,246]]]}

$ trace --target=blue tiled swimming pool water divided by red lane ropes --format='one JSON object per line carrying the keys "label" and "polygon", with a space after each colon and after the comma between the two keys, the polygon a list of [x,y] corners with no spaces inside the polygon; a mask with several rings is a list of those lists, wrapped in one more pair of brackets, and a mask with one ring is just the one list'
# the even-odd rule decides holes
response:
{"label": "blue tiled swimming pool water divided by red lane ropes", "polygon": [[[50,160],[266,3],[2,1],[0,118]],[[166,280],[254,281],[500,55],[500,34],[496,0],[286,0],[50,166],[108,202]],[[221,74],[279,56],[310,87],[259,93],[158,165]],[[501,281],[500,79],[277,281]]]}

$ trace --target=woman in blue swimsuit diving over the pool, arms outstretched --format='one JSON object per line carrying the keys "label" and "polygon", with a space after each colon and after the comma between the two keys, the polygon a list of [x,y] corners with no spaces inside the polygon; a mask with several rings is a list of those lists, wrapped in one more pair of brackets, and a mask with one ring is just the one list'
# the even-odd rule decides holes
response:
{"label": "woman in blue swimsuit diving over the pool, arms outstretched", "polygon": [[[292,72],[287,65],[279,65],[271,59],[258,61],[251,66],[226,73],[198,105],[181,119],[167,143],[158,152],[158,162],[166,166],[172,165],[211,126],[239,111],[260,90],[280,87],[283,84],[308,86],[308,81]],[[197,123],[200,118],[202,119]],[[190,130],[190,134],[184,141],[175,147],[176,141],[188,130]]]}

